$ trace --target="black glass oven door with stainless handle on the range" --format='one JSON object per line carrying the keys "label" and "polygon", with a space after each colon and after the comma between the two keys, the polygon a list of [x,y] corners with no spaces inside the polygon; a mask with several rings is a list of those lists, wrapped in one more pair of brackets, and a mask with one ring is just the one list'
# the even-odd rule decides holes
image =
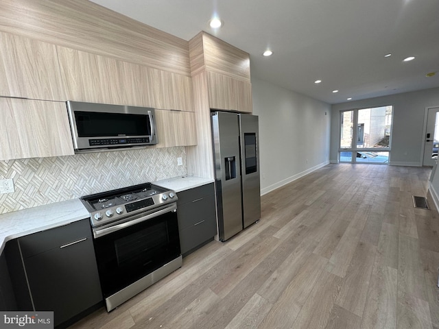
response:
{"label": "black glass oven door with stainless handle on the range", "polygon": [[104,228],[106,234],[97,234],[93,239],[104,297],[180,256],[176,205],[155,214],[136,215],[130,221]]}

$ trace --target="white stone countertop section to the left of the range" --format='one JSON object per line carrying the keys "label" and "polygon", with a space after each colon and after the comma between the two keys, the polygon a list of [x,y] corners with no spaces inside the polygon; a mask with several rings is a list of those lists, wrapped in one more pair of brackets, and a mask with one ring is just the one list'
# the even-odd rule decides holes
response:
{"label": "white stone countertop section to the left of the range", "polygon": [[0,254],[6,242],[89,218],[80,199],[56,202],[0,215]]}

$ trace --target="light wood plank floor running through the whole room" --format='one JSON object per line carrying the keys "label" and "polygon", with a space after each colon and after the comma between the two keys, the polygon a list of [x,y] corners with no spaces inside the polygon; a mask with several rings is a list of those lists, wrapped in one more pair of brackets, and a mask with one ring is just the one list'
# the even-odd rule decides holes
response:
{"label": "light wood plank floor running through the whole room", "polygon": [[329,164],[264,195],[259,223],[71,328],[439,329],[439,216],[412,202],[430,171]]}

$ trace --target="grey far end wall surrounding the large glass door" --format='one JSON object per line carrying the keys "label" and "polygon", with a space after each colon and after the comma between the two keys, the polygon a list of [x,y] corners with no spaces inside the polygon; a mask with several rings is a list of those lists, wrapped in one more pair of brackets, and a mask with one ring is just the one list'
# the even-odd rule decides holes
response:
{"label": "grey far end wall surrounding the large glass door", "polygon": [[439,88],[350,101],[332,106],[331,162],[337,162],[340,110],[393,106],[390,164],[422,166],[425,108],[439,106]]}

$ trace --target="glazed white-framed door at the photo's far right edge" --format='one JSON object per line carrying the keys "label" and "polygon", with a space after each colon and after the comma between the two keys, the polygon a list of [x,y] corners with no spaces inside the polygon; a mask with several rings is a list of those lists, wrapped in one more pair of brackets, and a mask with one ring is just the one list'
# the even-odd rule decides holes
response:
{"label": "glazed white-framed door at the photo's far right edge", "polygon": [[438,160],[439,148],[439,107],[427,108],[427,123],[425,125],[423,166],[433,167]]}

